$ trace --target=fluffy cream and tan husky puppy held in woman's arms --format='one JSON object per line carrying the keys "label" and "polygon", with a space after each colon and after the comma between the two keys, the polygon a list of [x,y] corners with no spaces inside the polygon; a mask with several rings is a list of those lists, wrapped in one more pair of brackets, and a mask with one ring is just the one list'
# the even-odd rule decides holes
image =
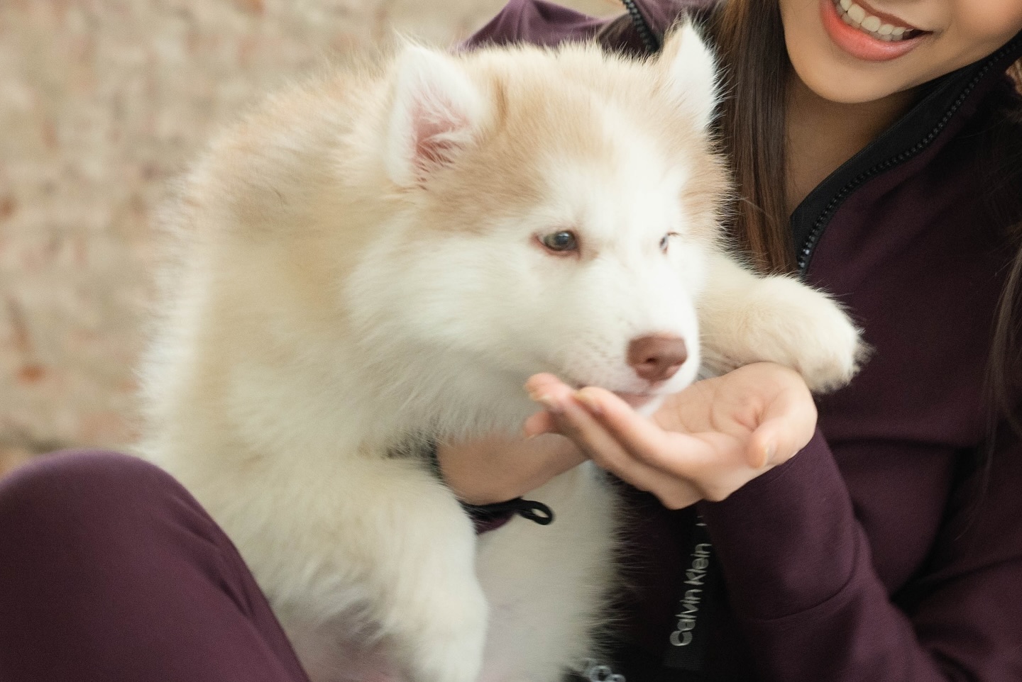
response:
{"label": "fluffy cream and tan husky puppy held in woman's arms", "polygon": [[[477,538],[409,438],[516,433],[551,372],[647,408],[700,368],[846,382],[822,293],[723,247],[711,55],[407,45],[270,98],[169,221],[140,449],[237,544],[317,682],[555,682],[592,654],[615,498]],[[480,456],[483,456],[480,453]]]}

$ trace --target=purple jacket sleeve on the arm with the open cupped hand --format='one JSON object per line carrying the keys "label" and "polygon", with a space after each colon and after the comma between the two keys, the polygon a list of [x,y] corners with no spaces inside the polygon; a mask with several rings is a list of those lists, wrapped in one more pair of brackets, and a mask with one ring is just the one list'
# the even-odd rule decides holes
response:
{"label": "purple jacket sleeve on the arm with the open cupped hand", "polygon": [[874,571],[819,432],[789,462],[701,503],[762,678],[1022,680],[1022,447],[1007,435],[998,443],[959,486],[902,607]]}

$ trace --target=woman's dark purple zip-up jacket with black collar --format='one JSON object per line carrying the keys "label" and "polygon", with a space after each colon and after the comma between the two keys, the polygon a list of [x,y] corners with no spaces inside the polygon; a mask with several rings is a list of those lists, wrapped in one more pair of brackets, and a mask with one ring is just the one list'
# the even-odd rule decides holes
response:
{"label": "woman's dark purple zip-up jacket with black collar", "polygon": [[[683,6],[629,0],[618,47],[656,49]],[[470,44],[556,44],[605,22],[512,2]],[[630,682],[1022,680],[1022,445],[990,426],[984,373],[1012,247],[983,145],[1022,35],[933,84],[792,215],[805,279],[875,349],[820,400],[816,438],[730,498],[667,512],[630,493]],[[1020,135],[1015,129],[1014,135]],[[1018,162],[1018,161],[1016,161]],[[1004,217],[1004,216],[1003,216]],[[1013,404],[1020,404],[1013,396]],[[723,577],[715,574],[722,574]]]}

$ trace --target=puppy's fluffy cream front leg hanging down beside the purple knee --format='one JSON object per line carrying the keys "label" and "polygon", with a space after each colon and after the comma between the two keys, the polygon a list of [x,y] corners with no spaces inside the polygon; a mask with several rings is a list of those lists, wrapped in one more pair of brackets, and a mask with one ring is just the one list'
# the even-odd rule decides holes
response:
{"label": "puppy's fluffy cream front leg hanging down beside the purple knee", "polygon": [[349,459],[336,478],[307,473],[293,512],[275,508],[239,546],[311,677],[359,679],[331,666],[352,665],[335,662],[335,645],[361,644],[406,682],[475,682],[487,605],[475,530],[451,492],[405,459]]}

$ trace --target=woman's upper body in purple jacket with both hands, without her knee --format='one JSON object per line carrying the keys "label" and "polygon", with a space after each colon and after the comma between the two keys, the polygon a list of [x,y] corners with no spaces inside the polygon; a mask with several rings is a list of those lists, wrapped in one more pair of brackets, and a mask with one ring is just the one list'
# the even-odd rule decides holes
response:
{"label": "woman's upper body in purple jacket with both hands, without her knee", "polygon": [[[1022,119],[1005,77],[1022,2],[626,5],[603,27],[513,2],[475,40],[600,35],[642,53],[694,9],[726,66],[736,237],[837,295],[873,356],[818,421],[797,377],[766,364],[697,384],[655,425],[535,377],[547,410],[527,431],[578,447],[442,447],[449,483],[495,501],[588,456],[655,495],[630,497],[641,568],[610,662],[626,678],[1022,679],[1022,394],[1006,343]],[[710,555],[707,576],[692,571]]]}

